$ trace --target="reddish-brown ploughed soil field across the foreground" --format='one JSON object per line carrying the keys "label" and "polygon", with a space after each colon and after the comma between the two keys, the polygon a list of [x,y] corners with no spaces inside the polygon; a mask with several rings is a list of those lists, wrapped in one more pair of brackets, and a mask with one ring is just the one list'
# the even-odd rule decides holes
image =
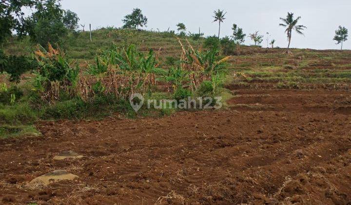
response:
{"label": "reddish-brown ploughed soil field across the foreground", "polygon": [[[351,94],[235,90],[219,111],[40,122],[0,141],[0,203],[351,204]],[[81,159],[53,160],[61,151]],[[54,170],[78,175],[34,187]]]}

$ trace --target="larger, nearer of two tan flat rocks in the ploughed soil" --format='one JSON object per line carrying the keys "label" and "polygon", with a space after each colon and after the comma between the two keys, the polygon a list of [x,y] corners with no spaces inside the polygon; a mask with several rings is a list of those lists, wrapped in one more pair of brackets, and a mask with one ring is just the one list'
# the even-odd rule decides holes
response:
{"label": "larger, nearer of two tan flat rocks in the ploughed soil", "polygon": [[30,184],[44,184],[48,185],[56,181],[60,180],[69,180],[73,181],[76,178],[78,178],[77,175],[71,174],[69,172],[66,172],[64,170],[55,170],[53,172],[41,175],[40,177],[35,178],[30,182]]}

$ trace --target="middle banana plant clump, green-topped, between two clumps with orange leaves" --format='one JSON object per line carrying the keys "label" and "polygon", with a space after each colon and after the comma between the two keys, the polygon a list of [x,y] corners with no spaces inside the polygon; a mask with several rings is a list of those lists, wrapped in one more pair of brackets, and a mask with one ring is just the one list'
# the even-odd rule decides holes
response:
{"label": "middle banana plant clump, green-topped, between two clumps with orange leaves", "polygon": [[113,95],[117,98],[128,99],[131,94],[151,93],[151,87],[156,83],[156,74],[164,73],[157,68],[158,62],[154,51],[143,53],[131,44],[119,49],[103,52],[96,58],[96,63],[89,65],[86,80],[80,83],[82,99],[88,101],[97,95]]}

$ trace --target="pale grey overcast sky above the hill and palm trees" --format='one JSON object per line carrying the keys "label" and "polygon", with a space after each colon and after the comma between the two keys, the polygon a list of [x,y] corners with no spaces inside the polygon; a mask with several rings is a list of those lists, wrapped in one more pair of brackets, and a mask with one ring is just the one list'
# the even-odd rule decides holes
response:
{"label": "pale grey overcast sky above the hill and palm trees", "polygon": [[[299,24],[308,27],[305,36],[292,34],[292,47],[339,49],[332,40],[337,27],[345,26],[351,32],[351,0],[62,0],[61,4],[76,12],[86,28],[89,23],[93,28],[120,27],[123,17],[138,7],[149,20],[147,29],[176,30],[176,24],[183,22],[188,31],[197,33],[200,27],[206,36],[217,34],[218,23],[212,16],[214,10],[223,9],[227,15],[221,37],[230,36],[236,23],[247,35],[269,32],[280,47],[288,44],[285,29],[279,26],[279,17],[285,18],[287,12],[301,16]],[[253,41],[247,37],[245,44]],[[267,46],[266,41],[262,44]],[[351,33],[344,48],[351,49]]]}

